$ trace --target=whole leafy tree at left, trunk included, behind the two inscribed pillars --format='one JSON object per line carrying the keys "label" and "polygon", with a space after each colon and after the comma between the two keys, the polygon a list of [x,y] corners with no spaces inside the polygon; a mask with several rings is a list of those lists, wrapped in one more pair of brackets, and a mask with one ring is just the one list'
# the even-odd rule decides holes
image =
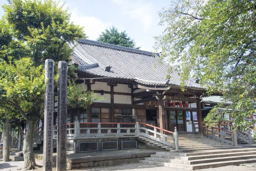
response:
{"label": "whole leafy tree at left, trunk included, behind the two inscribed pillars", "polygon": [[[72,49],[67,42],[86,36],[83,28],[70,22],[63,5],[53,0],[9,0],[3,8],[0,104],[11,106],[28,123],[23,142],[24,168],[33,169],[37,166],[32,150],[34,130],[44,113],[44,61],[69,60]],[[91,103],[90,96],[80,100],[79,105],[84,107]]]}

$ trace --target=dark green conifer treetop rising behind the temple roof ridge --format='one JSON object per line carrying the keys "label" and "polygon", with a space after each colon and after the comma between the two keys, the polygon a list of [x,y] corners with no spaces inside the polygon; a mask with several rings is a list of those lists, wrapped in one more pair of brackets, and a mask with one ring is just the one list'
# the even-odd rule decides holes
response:
{"label": "dark green conifer treetop rising behind the temple roof ridge", "polygon": [[136,49],[141,48],[136,47],[134,40],[131,39],[125,31],[118,32],[117,28],[114,26],[110,27],[109,30],[106,28],[105,32],[101,32],[97,41]]}

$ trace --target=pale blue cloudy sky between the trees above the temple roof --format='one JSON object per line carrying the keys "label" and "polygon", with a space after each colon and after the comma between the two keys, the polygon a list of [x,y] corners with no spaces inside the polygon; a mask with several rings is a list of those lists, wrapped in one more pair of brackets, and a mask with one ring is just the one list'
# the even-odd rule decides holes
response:
{"label": "pale blue cloudy sky between the trees above the temple roof", "polygon": [[[163,7],[169,7],[170,0],[61,0],[71,13],[75,24],[84,26],[90,40],[114,25],[119,31],[126,30],[137,46],[152,51],[154,36],[160,35],[163,27],[157,25],[157,14]],[[0,0],[0,5],[7,3]],[[0,16],[3,9],[0,10]]]}

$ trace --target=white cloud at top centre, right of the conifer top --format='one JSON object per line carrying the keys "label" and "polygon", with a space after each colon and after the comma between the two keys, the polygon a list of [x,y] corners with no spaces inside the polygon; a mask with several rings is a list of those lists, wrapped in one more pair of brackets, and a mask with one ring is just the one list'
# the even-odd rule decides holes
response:
{"label": "white cloud at top centre, right of the conifer top", "polygon": [[122,13],[141,22],[145,30],[151,27],[153,20],[153,5],[144,1],[113,0],[113,3],[120,6]]}

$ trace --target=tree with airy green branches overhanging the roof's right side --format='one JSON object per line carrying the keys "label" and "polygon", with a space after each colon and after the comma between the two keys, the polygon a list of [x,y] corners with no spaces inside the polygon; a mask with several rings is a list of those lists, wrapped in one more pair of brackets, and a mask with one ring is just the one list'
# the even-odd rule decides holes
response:
{"label": "tree with airy green branches overhanging the roof's right side", "polygon": [[[209,126],[228,111],[236,129],[250,127],[256,112],[255,1],[178,0],[173,4],[159,13],[160,25],[166,25],[156,37],[161,58],[173,64],[171,70],[180,71],[183,90],[185,80],[194,76],[209,95],[223,94],[223,103],[205,119]],[[221,106],[230,110],[220,112]]]}

